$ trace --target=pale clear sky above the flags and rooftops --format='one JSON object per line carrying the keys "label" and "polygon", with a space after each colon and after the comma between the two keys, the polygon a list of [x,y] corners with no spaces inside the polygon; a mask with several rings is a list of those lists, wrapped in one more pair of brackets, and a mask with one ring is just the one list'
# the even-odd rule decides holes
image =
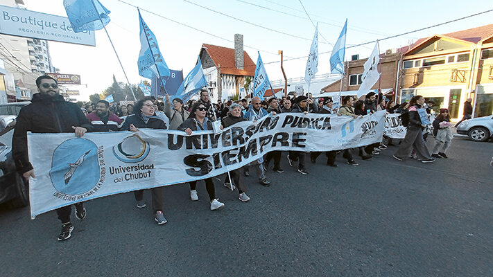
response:
{"label": "pale clear sky above the flags and rooftops", "polygon": [[[456,0],[124,1],[139,6],[144,21],[157,37],[161,53],[170,69],[182,69],[184,75],[187,75],[196,64],[202,44],[234,48],[234,34],[239,33],[243,35],[244,50],[254,62],[257,62],[257,51],[259,51],[271,81],[283,78],[278,50],[284,52],[284,70],[287,78],[304,77],[306,66],[304,56],[309,54],[311,39],[315,32],[313,24],[318,23],[320,55],[317,74],[321,74],[330,71],[330,52],[346,19],[348,30],[345,60],[349,60],[354,54],[359,54],[360,58],[368,57],[374,48],[374,43],[350,47],[352,45],[384,39],[391,35],[493,9],[491,1],[483,0],[472,1],[467,5],[464,1]],[[135,84],[145,80],[139,76],[137,70],[140,50],[137,8],[119,0],[100,0],[100,2],[111,11],[111,21],[107,25],[107,31],[130,82]],[[24,3],[28,10],[67,16],[62,0],[24,0]],[[308,19],[303,7],[311,20]],[[406,46],[420,37],[451,33],[487,24],[493,24],[493,12],[401,37],[384,39],[379,43],[380,53],[385,52],[386,49]],[[101,93],[110,87],[112,75],[115,75],[116,80],[126,82],[104,30],[96,31],[95,47],[49,42],[49,51],[53,66],[60,69],[60,73],[81,75],[83,85],[71,87],[80,90],[81,95],[78,100],[89,100],[90,94]],[[289,60],[294,57],[303,58]]]}

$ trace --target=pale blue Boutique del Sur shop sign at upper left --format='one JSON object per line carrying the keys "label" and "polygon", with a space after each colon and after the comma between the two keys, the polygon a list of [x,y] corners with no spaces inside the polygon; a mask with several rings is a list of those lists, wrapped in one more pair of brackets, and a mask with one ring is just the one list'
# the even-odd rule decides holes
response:
{"label": "pale blue Boutique del Sur shop sign at upper left", "polygon": [[0,6],[0,12],[0,33],[2,34],[96,46],[94,31],[73,32],[67,17],[8,6]]}

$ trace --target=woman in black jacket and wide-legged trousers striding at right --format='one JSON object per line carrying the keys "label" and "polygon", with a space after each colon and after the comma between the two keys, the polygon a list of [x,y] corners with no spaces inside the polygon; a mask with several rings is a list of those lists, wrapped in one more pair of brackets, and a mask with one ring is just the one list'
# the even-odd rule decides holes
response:
{"label": "woman in black jacket and wide-legged trousers striding at right", "polygon": [[435,159],[431,158],[430,152],[423,140],[423,128],[426,125],[422,124],[418,111],[418,109],[422,109],[423,104],[423,96],[414,96],[409,101],[409,122],[406,136],[399,146],[399,150],[394,154],[394,158],[399,161],[409,157],[413,148],[416,150],[417,159],[420,159],[422,163],[433,163],[435,161]]}

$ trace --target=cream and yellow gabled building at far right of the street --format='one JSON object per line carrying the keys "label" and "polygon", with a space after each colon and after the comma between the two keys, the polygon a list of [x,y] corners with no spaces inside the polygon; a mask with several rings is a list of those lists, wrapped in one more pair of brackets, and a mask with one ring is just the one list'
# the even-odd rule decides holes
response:
{"label": "cream and yellow gabled building at far right of the street", "polygon": [[418,39],[402,60],[401,101],[421,95],[462,118],[470,97],[473,116],[493,114],[493,24]]}

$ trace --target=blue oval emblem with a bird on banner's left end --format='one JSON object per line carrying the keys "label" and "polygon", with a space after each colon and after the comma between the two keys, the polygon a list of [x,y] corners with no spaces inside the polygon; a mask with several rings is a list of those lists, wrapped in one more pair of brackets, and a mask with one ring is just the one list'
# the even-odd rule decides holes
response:
{"label": "blue oval emblem with a bird on banner's left end", "polygon": [[98,184],[98,147],[88,139],[69,139],[53,152],[50,178],[66,195],[86,193]]}

